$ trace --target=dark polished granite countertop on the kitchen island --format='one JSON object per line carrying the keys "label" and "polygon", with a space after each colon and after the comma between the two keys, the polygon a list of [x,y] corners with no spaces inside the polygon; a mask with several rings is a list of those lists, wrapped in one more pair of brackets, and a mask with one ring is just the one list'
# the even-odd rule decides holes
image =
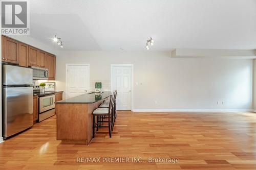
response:
{"label": "dark polished granite countertop on the kitchen island", "polygon": [[111,95],[110,91],[104,91],[102,93],[90,92],[82,95],[75,96],[66,100],[58,101],[55,103],[95,103],[102,99],[106,99]]}

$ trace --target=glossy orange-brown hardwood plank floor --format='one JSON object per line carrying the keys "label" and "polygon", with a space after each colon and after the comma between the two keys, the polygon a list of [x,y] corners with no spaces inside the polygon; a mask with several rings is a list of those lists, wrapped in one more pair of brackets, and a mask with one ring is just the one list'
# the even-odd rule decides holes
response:
{"label": "glossy orange-brown hardwood plank floor", "polygon": [[[112,138],[100,129],[89,146],[60,144],[52,117],[0,143],[0,169],[256,169],[255,138],[256,113],[122,111]],[[100,162],[77,162],[81,157]],[[130,162],[102,162],[106,157]],[[147,162],[158,157],[179,162]]]}

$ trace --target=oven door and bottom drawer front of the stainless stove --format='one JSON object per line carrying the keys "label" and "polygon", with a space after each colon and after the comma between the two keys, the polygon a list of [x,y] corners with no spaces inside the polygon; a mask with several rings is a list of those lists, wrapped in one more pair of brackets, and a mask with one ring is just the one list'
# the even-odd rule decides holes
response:
{"label": "oven door and bottom drawer front of the stainless stove", "polygon": [[55,95],[39,97],[39,122],[54,115]]}

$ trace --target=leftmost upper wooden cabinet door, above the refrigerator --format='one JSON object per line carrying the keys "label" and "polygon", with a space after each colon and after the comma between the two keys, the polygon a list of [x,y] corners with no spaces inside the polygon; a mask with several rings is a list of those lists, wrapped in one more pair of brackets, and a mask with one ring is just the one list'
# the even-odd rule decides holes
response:
{"label": "leftmost upper wooden cabinet door, above the refrigerator", "polygon": [[4,50],[5,61],[18,64],[18,41],[5,37]]}

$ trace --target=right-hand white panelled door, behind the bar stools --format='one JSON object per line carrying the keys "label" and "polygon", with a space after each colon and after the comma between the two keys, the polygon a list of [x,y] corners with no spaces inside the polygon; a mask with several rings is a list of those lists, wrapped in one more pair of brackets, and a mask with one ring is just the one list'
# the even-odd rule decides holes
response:
{"label": "right-hand white panelled door, behind the bar stools", "polygon": [[112,90],[117,90],[116,109],[132,109],[132,66],[112,66]]}

